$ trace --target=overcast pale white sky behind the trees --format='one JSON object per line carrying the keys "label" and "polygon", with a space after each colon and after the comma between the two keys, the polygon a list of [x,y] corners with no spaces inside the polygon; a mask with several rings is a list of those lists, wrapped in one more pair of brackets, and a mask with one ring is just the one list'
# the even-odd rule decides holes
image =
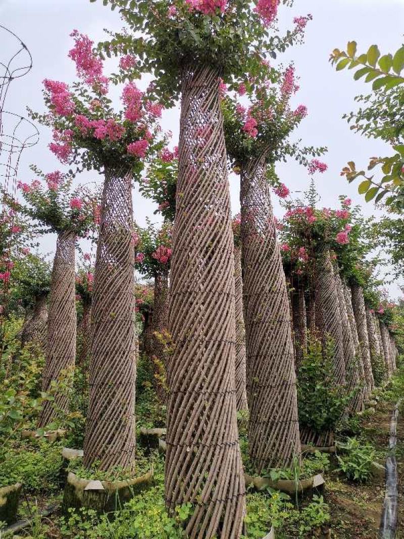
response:
{"label": "overcast pale white sky behind the trees", "polygon": [[[367,92],[370,87],[354,82],[352,72],[336,73],[329,64],[329,55],[333,49],[342,49],[353,39],[358,42],[360,51],[365,52],[368,46],[377,43],[382,53],[394,52],[402,44],[404,0],[295,0],[291,9],[280,7],[280,27],[291,27],[293,17],[307,13],[312,14],[313,20],[307,26],[305,43],[292,47],[279,58],[284,64],[294,61],[301,86],[294,98],[295,104],[303,103],[309,110],[309,116],[303,120],[296,136],[304,144],[329,149],[324,157],[329,169],[317,183],[322,205],[335,206],[338,195],[345,194],[363,205],[365,215],[378,215],[373,206],[358,195],[357,184],[349,185],[339,175],[347,161],[353,160],[364,167],[368,157],[386,153],[384,144],[353,134],[342,119],[345,112],[354,108],[354,96]],[[23,115],[27,105],[34,110],[43,110],[41,81],[44,78],[74,80],[74,65],[67,58],[72,44],[69,33],[73,29],[87,33],[97,42],[105,39],[105,27],[110,30],[122,27],[119,13],[104,7],[101,0],[91,4],[89,0],[0,0],[0,24],[15,32],[32,54],[32,70],[12,83],[5,103],[5,109]],[[9,42],[5,46],[4,42],[0,43],[0,61],[9,58],[11,52]],[[113,68],[110,66],[111,71]],[[109,71],[109,64],[105,71]],[[114,88],[113,94],[118,98],[120,92]],[[163,128],[172,130],[173,143],[178,140],[178,123],[178,108],[164,113]],[[60,164],[47,149],[49,141],[50,133],[41,128],[39,144],[25,151],[19,179],[32,179],[30,163],[36,163],[44,171],[60,169]],[[277,172],[291,191],[307,189],[309,178],[295,162],[279,164]],[[100,181],[96,174],[80,179],[87,178]],[[235,213],[239,210],[238,178],[231,176],[230,186]],[[144,224],[146,216],[157,220],[150,201],[145,201],[138,193],[135,193],[134,201],[135,218],[139,224]],[[275,214],[281,216],[276,200],[274,207]],[[47,238],[44,250],[54,250],[54,243],[54,238]],[[389,289],[393,296],[399,295],[398,286],[392,285]]]}

